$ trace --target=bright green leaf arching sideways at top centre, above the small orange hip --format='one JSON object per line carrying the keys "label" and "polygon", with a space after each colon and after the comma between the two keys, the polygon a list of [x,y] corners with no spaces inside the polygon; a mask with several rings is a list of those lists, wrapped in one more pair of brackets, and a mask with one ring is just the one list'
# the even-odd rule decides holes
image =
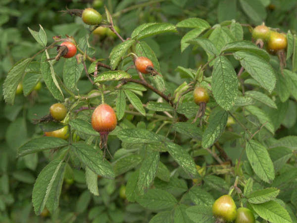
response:
{"label": "bright green leaf arching sideways at top centre, above the small orange hip", "polygon": [[138,26],[131,34],[132,39],[143,38],[166,32],[177,32],[176,27],[170,23],[147,23],[145,26]]}

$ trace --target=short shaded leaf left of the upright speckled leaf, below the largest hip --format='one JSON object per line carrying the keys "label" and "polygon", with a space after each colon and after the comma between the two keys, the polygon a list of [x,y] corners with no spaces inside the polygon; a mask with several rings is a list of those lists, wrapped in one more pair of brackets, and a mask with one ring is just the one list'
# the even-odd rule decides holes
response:
{"label": "short shaded leaf left of the upright speckled leaf, below the largest hip", "polygon": [[134,167],[137,167],[141,161],[142,157],[139,155],[130,155],[117,160],[113,165],[116,176],[128,172]]}

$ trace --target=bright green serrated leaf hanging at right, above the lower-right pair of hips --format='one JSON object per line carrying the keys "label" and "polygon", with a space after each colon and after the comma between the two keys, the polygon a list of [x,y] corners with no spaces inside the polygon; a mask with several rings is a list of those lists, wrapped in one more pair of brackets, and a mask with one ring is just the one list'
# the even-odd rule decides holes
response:
{"label": "bright green serrated leaf hanging at right, above the lower-right pair of hips", "polygon": [[271,183],[274,179],[273,163],[267,149],[260,143],[249,140],[246,142],[247,159],[255,173],[265,182]]}

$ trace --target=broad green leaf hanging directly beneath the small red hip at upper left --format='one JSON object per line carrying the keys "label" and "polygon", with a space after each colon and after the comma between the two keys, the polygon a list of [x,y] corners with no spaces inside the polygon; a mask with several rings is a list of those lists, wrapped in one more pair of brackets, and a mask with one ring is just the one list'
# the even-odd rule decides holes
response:
{"label": "broad green leaf hanging directly beneath the small red hip at upper left", "polygon": [[81,77],[83,69],[83,63],[78,64],[75,56],[65,59],[63,67],[63,81],[67,88],[72,91],[78,90],[76,84]]}

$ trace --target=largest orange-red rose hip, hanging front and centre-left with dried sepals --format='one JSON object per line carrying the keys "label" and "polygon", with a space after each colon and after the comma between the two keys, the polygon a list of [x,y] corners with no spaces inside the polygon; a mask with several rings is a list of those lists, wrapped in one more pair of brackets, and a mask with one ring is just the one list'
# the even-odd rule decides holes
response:
{"label": "largest orange-red rose hip, hanging front and centre-left with dried sepals", "polygon": [[117,124],[113,109],[106,104],[99,105],[92,114],[92,126],[95,131],[101,133],[111,132]]}

